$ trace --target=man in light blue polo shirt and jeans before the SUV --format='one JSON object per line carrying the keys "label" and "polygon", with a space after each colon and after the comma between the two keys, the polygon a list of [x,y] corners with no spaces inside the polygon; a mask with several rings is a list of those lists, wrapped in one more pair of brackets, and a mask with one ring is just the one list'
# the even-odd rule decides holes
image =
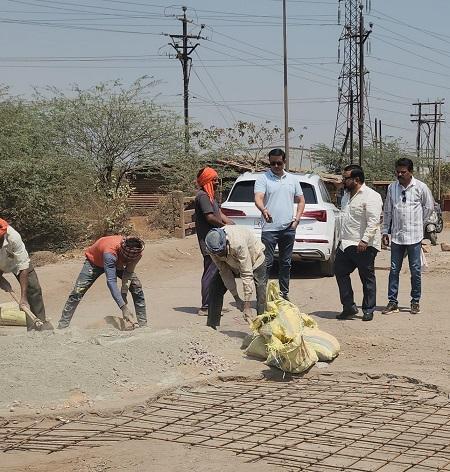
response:
{"label": "man in light blue polo shirt and jeans before the SUV", "polygon": [[[278,280],[281,296],[288,300],[295,231],[305,208],[305,198],[299,179],[284,170],[285,164],[286,155],[282,149],[269,152],[270,170],[255,182],[255,205],[262,215],[261,240],[266,247],[266,277],[269,277],[278,244]],[[294,203],[297,203],[295,214]]]}

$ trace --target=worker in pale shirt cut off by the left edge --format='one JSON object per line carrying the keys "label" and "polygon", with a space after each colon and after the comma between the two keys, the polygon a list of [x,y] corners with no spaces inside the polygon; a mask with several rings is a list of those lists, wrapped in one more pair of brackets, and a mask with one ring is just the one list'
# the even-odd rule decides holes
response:
{"label": "worker in pale shirt cut off by the left edge", "polygon": [[[45,308],[42,299],[42,290],[25,244],[20,234],[5,220],[0,218],[0,288],[5,292],[12,292],[11,284],[3,274],[13,273],[20,284],[19,308],[31,309],[41,321],[45,322]],[[34,325],[27,317],[27,329]]]}

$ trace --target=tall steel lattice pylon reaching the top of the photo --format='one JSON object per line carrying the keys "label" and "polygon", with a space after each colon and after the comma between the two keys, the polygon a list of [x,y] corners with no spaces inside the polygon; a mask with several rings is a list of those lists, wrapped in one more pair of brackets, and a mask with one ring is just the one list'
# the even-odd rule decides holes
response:
{"label": "tall steel lattice pylon reaching the top of the photo", "polygon": [[[338,59],[340,62],[341,43],[344,45],[344,58],[339,75],[338,112],[333,138],[333,150],[339,152],[344,161],[354,162],[354,143],[356,141],[355,115],[358,125],[358,162],[363,161],[364,129],[368,126],[372,133],[368,112],[367,84],[368,71],[364,64],[364,45],[372,32],[364,26],[362,0],[338,0],[339,20],[341,3],[345,5],[345,24],[339,38]],[[367,9],[370,2],[366,2]],[[373,142],[373,136],[372,136]]]}

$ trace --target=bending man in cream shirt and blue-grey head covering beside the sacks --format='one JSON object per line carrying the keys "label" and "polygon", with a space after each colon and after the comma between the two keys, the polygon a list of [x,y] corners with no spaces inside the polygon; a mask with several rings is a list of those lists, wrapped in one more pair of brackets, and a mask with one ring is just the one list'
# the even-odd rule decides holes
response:
{"label": "bending man in cream shirt and blue-grey head covering beside the sacks", "polygon": [[[208,254],[219,271],[214,275],[209,288],[207,326],[216,329],[220,325],[223,296],[229,290],[244,318],[252,318],[250,302],[253,283],[256,287],[256,311],[261,315],[266,310],[266,264],[264,244],[244,226],[226,225],[213,228],[206,235]],[[235,277],[240,276],[244,300],[239,297]]]}

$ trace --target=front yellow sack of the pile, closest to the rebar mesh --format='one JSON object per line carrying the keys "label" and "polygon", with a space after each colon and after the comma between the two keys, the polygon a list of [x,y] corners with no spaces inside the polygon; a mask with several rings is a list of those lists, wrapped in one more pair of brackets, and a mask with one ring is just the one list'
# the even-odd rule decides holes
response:
{"label": "front yellow sack of the pile, closest to the rebar mesh", "polygon": [[301,334],[286,344],[274,338],[267,347],[269,350],[267,364],[277,367],[283,372],[300,374],[318,361],[316,353],[304,342]]}

